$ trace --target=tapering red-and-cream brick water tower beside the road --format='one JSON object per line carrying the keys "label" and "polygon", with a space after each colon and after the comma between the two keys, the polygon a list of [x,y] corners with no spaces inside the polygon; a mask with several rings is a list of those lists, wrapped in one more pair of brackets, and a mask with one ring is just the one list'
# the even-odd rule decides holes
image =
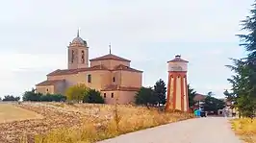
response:
{"label": "tapering red-and-cream brick water tower beside the road", "polygon": [[174,60],[167,61],[168,83],[166,110],[178,109],[189,111],[188,62],[187,60],[182,60],[179,55],[175,56]]}

